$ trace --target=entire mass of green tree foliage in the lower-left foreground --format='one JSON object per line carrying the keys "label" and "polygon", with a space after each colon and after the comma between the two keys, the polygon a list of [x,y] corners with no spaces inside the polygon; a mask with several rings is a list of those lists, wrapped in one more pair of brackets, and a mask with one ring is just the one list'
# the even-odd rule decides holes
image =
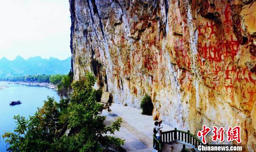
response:
{"label": "entire mass of green tree foliage in the lower-left foreground", "polygon": [[[34,116],[25,119],[15,116],[14,133],[3,135],[9,143],[9,152],[102,152],[102,146],[124,143],[119,138],[106,135],[119,131],[121,119],[106,126],[102,110],[110,105],[96,101],[92,88],[95,78],[91,73],[72,83],[70,98],[56,103],[53,98],[45,101]],[[66,133],[65,132],[69,132]]]}

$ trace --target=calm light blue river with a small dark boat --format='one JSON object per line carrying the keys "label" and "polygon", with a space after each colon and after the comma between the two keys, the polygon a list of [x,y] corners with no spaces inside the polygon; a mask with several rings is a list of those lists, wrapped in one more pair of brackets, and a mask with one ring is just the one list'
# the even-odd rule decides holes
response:
{"label": "calm light blue river with a small dark boat", "polygon": [[[14,130],[16,125],[13,116],[20,115],[28,118],[37,111],[37,107],[44,105],[47,96],[54,97],[56,101],[60,100],[57,92],[53,89],[0,83],[0,152],[7,152],[7,144],[2,135],[6,131]],[[9,106],[11,100],[20,100],[22,104]]]}

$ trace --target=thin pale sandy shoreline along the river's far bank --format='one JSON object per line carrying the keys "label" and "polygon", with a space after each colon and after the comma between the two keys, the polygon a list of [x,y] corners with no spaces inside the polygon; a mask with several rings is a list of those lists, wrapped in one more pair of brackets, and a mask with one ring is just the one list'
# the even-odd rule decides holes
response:
{"label": "thin pale sandy shoreline along the river's far bank", "polygon": [[[1,83],[10,83],[10,84],[21,84],[21,85],[28,85],[28,86],[41,86],[41,87],[46,87],[48,89],[55,89],[57,90],[57,86],[52,84],[52,83],[39,83],[39,82],[13,82],[13,81],[0,81]],[[0,86],[0,89],[5,89],[7,88],[6,86]]]}

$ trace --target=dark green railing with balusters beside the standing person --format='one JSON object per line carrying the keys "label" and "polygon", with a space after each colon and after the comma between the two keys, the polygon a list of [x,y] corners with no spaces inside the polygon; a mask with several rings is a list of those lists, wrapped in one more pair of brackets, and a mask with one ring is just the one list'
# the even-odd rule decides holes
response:
{"label": "dark green railing with balusters beside the standing person", "polygon": [[[171,130],[171,131],[162,132],[162,137],[161,137],[162,142],[159,143],[160,144],[159,147],[161,147],[161,150],[162,150],[162,145],[161,145],[162,143],[171,143],[175,140],[179,140],[179,141],[182,141],[185,143],[192,144],[195,146],[195,148],[198,148],[199,145],[207,145],[207,144],[202,143],[200,139],[198,139],[196,136],[191,134],[189,130],[188,130],[188,132],[185,132],[182,130],[177,130],[177,128],[175,128],[174,130]],[[157,143],[156,141],[157,140],[154,135],[153,143]],[[187,152],[187,151],[184,151],[184,152]],[[206,151],[201,151],[201,152],[206,152]]]}

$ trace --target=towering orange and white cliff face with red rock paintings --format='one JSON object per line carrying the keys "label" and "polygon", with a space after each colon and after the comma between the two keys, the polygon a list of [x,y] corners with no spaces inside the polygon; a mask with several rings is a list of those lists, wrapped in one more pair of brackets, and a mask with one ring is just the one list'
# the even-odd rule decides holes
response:
{"label": "towering orange and white cliff face with red rock paintings", "polygon": [[[241,126],[256,152],[255,0],[70,0],[74,79],[193,134]],[[208,142],[211,138],[209,135]]]}

